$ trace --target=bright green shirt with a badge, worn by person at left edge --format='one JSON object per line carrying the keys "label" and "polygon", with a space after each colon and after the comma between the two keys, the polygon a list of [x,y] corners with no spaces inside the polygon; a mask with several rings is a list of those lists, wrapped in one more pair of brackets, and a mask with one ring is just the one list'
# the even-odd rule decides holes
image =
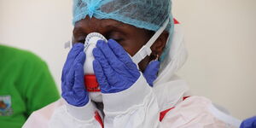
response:
{"label": "bright green shirt with a badge, worn by person at left edge", "polygon": [[0,127],[19,128],[35,110],[59,99],[44,61],[31,52],[0,45]]}

